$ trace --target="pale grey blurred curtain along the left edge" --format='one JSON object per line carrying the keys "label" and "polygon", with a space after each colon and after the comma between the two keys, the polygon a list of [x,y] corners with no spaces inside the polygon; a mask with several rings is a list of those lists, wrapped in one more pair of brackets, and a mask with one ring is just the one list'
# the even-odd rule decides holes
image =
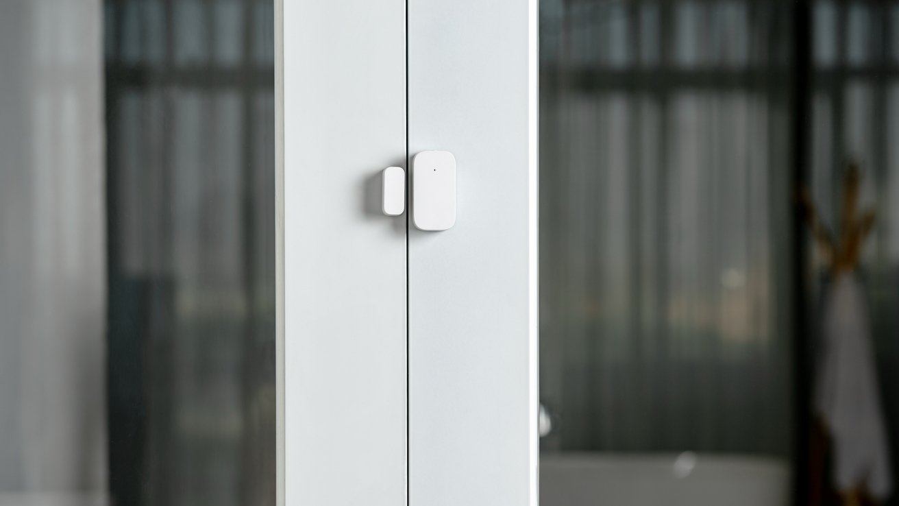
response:
{"label": "pale grey blurred curtain along the left edge", "polygon": [[4,0],[0,48],[0,505],[102,504],[100,0]]}

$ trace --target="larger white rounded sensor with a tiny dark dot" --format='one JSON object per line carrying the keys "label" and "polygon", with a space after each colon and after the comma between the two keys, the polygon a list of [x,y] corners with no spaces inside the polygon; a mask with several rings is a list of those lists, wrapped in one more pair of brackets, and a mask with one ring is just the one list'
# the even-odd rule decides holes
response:
{"label": "larger white rounded sensor with a tiny dark dot", "polygon": [[456,223],[456,158],[422,151],[412,158],[412,221],[419,230],[447,230]]}

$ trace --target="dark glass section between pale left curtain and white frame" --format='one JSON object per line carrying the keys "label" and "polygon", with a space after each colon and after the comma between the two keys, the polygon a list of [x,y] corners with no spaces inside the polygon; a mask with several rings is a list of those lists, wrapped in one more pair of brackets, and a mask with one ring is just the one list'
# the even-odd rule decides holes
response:
{"label": "dark glass section between pale left curtain and white frame", "polygon": [[98,438],[114,504],[275,501],[273,13],[258,0],[98,12]]}

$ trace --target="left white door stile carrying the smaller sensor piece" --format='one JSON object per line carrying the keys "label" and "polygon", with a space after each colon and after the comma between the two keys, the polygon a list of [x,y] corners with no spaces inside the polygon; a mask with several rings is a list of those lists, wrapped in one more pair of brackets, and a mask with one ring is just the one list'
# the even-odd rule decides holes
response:
{"label": "left white door stile carrying the smaller sensor piece", "polygon": [[[285,493],[397,506],[406,492],[405,2],[283,4]],[[352,146],[352,149],[348,149]]]}

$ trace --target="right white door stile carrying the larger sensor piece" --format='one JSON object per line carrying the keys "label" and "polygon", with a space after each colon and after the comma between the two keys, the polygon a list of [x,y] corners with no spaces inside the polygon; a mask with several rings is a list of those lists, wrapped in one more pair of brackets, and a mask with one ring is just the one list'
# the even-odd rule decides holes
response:
{"label": "right white door stile carrying the larger sensor piece", "polygon": [[537,1],[408,9],[409,153],[457,161],[409,229],[409,504],[536,504]]}

